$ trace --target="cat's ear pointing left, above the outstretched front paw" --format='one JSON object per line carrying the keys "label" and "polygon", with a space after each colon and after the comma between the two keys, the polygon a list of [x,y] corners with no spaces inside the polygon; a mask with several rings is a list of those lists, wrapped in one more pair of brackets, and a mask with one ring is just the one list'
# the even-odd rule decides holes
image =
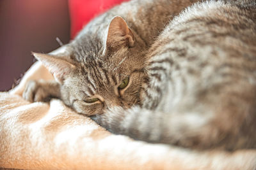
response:
{"label": "cat's ear pointing left, above the outstretched front paw", "polygon": [[33,53],[33,55],[42,62],[59,83],[63,83],[65,77],[76,69],[76,66],[61,57],[44,53]]}

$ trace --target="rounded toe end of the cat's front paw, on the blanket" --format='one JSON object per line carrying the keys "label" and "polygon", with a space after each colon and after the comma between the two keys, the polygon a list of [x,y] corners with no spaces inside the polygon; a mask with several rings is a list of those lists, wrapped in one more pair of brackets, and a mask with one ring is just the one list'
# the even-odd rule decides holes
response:
{"label": "rounded toe end of the cat's front paw, on the blanket", "polygon": [[51,94],[45,89],[45,83],[31,80],[26,84],[22,97],[30,102],[49,101]]}

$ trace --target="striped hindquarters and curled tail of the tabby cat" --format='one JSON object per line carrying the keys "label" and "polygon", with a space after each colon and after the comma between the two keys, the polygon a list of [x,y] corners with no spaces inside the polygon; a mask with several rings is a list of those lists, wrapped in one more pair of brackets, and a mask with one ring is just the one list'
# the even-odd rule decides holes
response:
{"label": "striped hindquarters and curled tail of the tabby cat", "polygon": [[117,134],[189,148],[256,148],[256,10],[195,4],[148,52],[143,106],[93,120]]}

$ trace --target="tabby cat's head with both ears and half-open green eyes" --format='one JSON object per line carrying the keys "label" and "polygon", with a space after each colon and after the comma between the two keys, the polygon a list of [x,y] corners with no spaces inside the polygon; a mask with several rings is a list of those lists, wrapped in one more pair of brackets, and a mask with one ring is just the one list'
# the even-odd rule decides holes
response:
{"label": "tabby cat's head with both ears and half-open green eyes", "polygon": [[145,45],[121,17],[111,20],[106,38],[97,32],[70,43],[63,56],[34,53],[61,84],[61,99],[78,113],[100,114],[113,106],[141,104]]}

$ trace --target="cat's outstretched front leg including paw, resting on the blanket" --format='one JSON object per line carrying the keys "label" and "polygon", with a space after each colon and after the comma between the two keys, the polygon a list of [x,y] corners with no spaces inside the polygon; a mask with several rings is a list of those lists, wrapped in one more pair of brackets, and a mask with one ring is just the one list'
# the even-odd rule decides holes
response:
{"label": "cat's outstretched front leg including paw, resting on the blanket", "polygon": [[54,80],[31,80],[26,84],[22,94],[30,101],[49,101],[52,97],[60,98],[60,84]]}

